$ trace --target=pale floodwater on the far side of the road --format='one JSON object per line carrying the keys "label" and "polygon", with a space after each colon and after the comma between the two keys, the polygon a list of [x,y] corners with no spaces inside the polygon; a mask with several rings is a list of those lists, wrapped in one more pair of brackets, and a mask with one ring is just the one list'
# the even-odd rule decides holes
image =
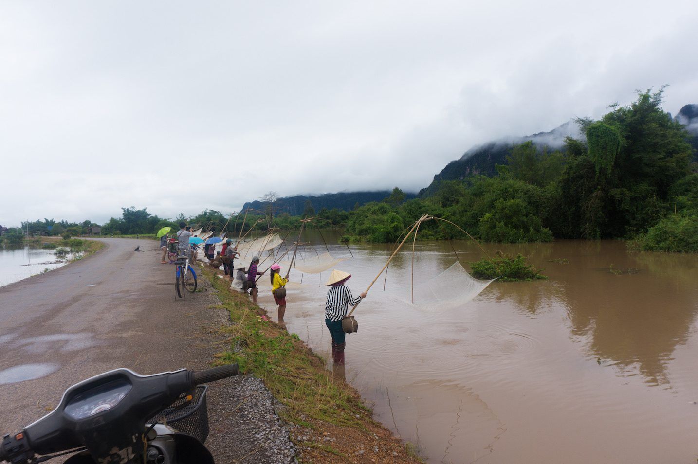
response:
{"label": "pale floodwater on the far side of the road", "polygon": [[66,264],[59,261],[54,250],[29,245],[0,246],[0,287]]}

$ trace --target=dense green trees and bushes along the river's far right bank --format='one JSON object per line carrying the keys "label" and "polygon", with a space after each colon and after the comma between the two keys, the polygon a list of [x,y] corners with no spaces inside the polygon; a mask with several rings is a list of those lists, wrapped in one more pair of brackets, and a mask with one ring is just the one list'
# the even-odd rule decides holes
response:
{"label": "dense green trees and bushes along the river's far right bank", "polygon": [[[586,140],[568,138],[563,151],[525,142],[492,177],[435,181],[417,200],[366,204],[352,211],[346,234],[355,241],[394,241],[428,213],[484,241],[639,235],[648,250],[692,250],[698,174],[691,172],[690,135],[660,107],[662,91],[641,92],[600,121],[579,119]],[[422,225],[419,234],[462,238],[434,223]]]}

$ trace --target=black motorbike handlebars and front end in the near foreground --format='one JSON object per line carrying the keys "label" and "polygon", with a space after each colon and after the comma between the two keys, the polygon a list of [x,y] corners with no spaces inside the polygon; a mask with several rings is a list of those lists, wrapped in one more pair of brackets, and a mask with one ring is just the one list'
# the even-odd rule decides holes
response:
{"label": "black motorbike handlebars and front end in the near foreground", "polygon": [[66,464],[214,464],[204,445],[209,417],[203,384],[238,373],[230,364],[154,375],[120,368],[91,377],[67,389],[53,412],[5,435],[0,462],[73,454]]}

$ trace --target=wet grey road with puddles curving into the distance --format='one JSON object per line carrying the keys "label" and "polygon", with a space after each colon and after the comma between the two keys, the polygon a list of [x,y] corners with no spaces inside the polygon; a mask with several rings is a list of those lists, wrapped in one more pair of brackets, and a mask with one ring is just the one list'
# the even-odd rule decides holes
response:
{"label": "wet grey road with puddles curving into the distance", "polygon": [[107,247],[84,260],[0,287],[1,435],[53,410],[70,385],[113,368],[208,367],[211,331],[221,324],[221,311],[209,309],[216,299],[175,299],[174,266],[160,263],[158,242],[101,241]]}

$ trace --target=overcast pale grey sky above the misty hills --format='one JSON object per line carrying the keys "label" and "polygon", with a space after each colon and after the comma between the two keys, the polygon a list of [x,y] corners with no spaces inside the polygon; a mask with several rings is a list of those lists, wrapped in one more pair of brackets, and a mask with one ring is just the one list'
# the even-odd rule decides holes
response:
{"label": "overcast pale grey sky above the misty hills", "polygon": [[635,89],[698,103],[696,24],[695,0],[1,0],[0,224],[416,191]]}

